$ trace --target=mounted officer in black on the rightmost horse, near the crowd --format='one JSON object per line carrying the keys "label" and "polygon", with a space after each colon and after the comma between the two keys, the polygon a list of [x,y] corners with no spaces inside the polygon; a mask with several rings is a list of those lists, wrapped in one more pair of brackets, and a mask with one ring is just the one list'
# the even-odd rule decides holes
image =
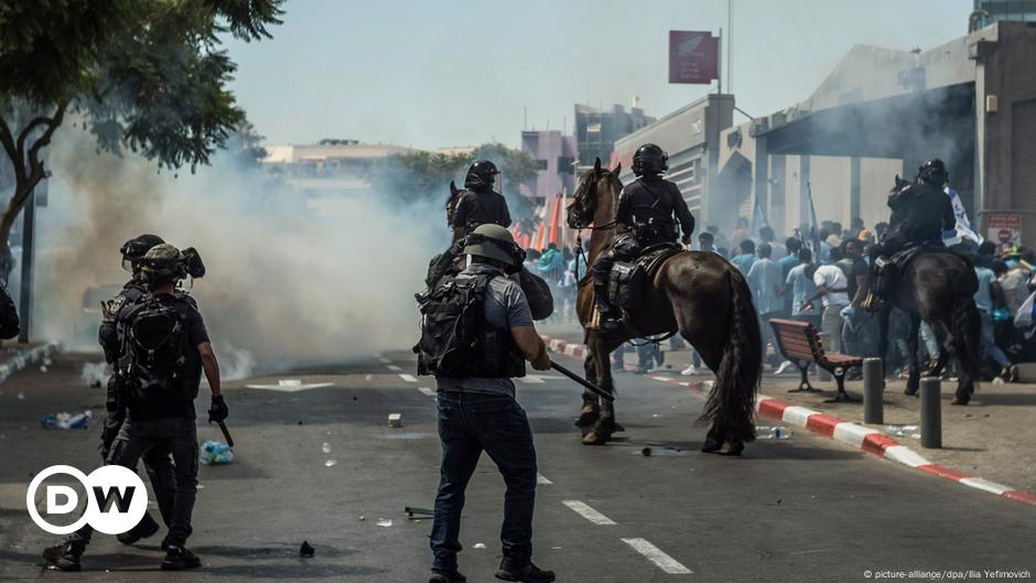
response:
{"label": "mounted officer in black on the rightmost horse, near the crowd", "polygon": [[[898,176],[896,180],[897,184],[902,182]],[[876,309],[879,298],[888,295],[905,267],[899,263],[908,261],[908,257],[896,258],[897,253],[929,244],[942,248],[942,231],[957,228],[957,215],[945,192],[949,180],[946,164],[931,159],[917,169],[914,184],[889,193],[888,228],[871,253],[871,294],[865,302],[868,310]]]}

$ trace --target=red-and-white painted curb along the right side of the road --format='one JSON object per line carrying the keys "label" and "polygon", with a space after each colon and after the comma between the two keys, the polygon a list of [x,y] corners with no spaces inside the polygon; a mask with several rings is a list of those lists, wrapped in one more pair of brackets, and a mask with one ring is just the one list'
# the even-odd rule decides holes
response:
{"label": "red-and-white painted curb along the right side of the road", "polygon": [[[547,336],[542,336],[542,338],[543,342],[547,343],[548,347],[553,352],[566,354],[570,356],[579,356],[580,358],[585,357],[586,355],[586,347],[583,345],[568,343],[558,338],[549,338]],[[646,375],[646,377],[651,380],[687,387],[703,396],[708,396],[709,391],[712,389],[711,380],[688,381],[681,380],[679,378],[662,377],[657,375]],[[806,429],[817,435],[842,442],[853,449],[861,450],[877,457],[892,460],[907,467],[913,467],[934,476],[939,476],[941,478],[949,479],[950,482],[963,484],[982,492],[995,494],[996,496],[1001,496],[1003,498],[1008,498],[1022,504],[1027,504],[1029,506],[1036,506],[1036,495],[1025,490],[1012,488],[1011,486],[997,484],[996,482],[992,482],[983,477],[971,476],[939,464],[934,464],[914,450],[905,445],[900,445],[899,442],[889,438],[888,435],[885,435],[876,429],[861,425],[859,423],[851,423],[834,415],[821,413],[820,411],[813,411],[812,409],[808,409],[806,407],[791,404],[787,401],[781,401],[780,399],[775,399],[765,395],[759,395],[755,403],[755,410],[760,417],[776,419],[789,425],[794,425],[799,429]]]}

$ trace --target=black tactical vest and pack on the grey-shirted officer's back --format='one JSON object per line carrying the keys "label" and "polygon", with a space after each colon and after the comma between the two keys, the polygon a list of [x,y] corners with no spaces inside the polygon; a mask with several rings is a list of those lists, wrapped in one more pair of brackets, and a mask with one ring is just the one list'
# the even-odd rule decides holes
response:
{"label": "black tactical vest and pack on the grey-shirted officer's back", "polygon": [[486,320],[489,281],[499,273],[445,277],[421,303],[418,374],[449,378],[514,378],[525,358],[507,328]]}

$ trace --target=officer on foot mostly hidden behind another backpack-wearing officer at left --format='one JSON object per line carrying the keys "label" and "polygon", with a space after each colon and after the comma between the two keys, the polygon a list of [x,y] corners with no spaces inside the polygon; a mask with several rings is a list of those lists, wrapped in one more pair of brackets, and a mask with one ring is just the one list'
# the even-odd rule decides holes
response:
{"label": "officer on foot mostly hidden behind another backpack-wearing officer at left", "polygon": [[[122,355],[122,336],[119,327],[118,315],[132,306],[148,293],[148,287],[141,277],[141,260],[152,247],[164,242],[157,235],[141,235],[126,241],[119,251],[122,253],[122,268],[132,273],[130,280],[122,287],[112,300],[101,302],[101,323],[98,331],[98,342],[105,354],[105,360],[115,371],[108,378],[108,395],[106,400],[107,415],[105,425],[100,434],[100,456],[106,461],[111,450],[111,443],[118,435],[126,419],[126,400],[122,389],[125,384],[118,374],[118,360]],[[165,525],[169,525],[172,514],[173,495],[175,484],[173,482],[173,465],[170,461],[170,452],[162,447],[154,447],[143,455],[144,467],[151,481],[151,487],[154,490],[155,500]],[[136,464],[133,466],[136,471]],[[159,530],[159,523],[151,517],[151,514],[144,511],[140,522],[127,532],[118,535],[119,542],[123,544],[133,544],[140,539],[148,538]],[[63,543],[47,548],[43,551],[43,557],[50,563],[62,571],[79,571],[82,569],[80,559],[86,546],[93,538],[94,529],[89,525],[84,526]]]}

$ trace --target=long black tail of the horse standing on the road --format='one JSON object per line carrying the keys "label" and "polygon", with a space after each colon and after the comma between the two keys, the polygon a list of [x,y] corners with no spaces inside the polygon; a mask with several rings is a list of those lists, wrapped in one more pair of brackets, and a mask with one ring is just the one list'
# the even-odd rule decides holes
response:
{"label": "long black tail of the horse standing on the road", "polygon": [[731,289],[730,335],[701,420],[719,421],[727,436],[752,441],[755,439],[752,417],[763,371],[763,337],[744,276],[729,268],[726,279]]}

